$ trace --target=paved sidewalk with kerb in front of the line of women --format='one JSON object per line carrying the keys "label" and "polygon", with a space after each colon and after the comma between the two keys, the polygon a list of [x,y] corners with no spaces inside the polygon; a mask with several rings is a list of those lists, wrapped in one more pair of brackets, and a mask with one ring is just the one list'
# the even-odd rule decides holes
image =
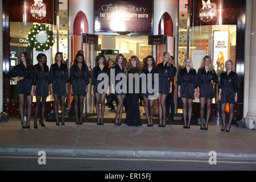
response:
{"label": "paved sidewalk with kerb in front of the line of women", "polygon": [[234,126],[226,133],[215,123],[209,124],[208,131],[182,125],[45,125],[34,129],[32,121],[30,129],[22,129],[18,119],[1,122],[0,153],[37,155],[43,150],[54,155],[209,158],[208,152],[216,151],[219,158],[256,160],[255,131]]}

